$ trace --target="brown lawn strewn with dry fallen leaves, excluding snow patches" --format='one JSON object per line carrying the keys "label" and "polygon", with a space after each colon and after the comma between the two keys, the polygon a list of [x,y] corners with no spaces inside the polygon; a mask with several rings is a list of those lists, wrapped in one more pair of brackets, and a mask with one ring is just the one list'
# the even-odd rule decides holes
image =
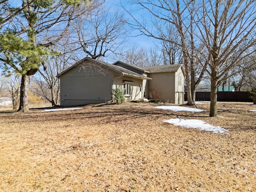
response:
{"label": "brown lawn strewn with dry fallen leaves, excluding snow patches", "polygon": [[[126,102],[0,112],[1,192],[256,190],[256,106],[218,102],[218,117]],[[198,119],[220,134],[163,123]]]}

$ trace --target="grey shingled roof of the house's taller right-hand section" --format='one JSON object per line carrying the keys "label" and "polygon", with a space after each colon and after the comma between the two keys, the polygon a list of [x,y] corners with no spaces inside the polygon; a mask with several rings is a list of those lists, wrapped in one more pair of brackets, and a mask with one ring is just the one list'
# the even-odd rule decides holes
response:
{"label": "grey shingled roof of the house's taller right-hand section", "polygon": [[182,72],[185,75],[185,71],[182,64],[149,66],[149,67],[142,67],[142,69],[148,70],[150,73],[164,73],[164,72],[176,72],[180,67],[182,68]]}

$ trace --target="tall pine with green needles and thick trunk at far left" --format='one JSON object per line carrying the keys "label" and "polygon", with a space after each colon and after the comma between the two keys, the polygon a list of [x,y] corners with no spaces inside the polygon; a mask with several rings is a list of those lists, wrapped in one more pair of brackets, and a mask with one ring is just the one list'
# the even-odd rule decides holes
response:
{"label": "tall pine with green needles and thick trunk at far left", "polygon": [[[68,32],[71,21],[81,14],[80,6],[86,7],[86,3],[87,0],[1,2],[0,65],[6,73],[21,74],[18,111],[29,110],[29,76],[40,65],[46,69],[44,61],[56,54],[50,47]],[[12,10],[17,14],[10,17]]]}

